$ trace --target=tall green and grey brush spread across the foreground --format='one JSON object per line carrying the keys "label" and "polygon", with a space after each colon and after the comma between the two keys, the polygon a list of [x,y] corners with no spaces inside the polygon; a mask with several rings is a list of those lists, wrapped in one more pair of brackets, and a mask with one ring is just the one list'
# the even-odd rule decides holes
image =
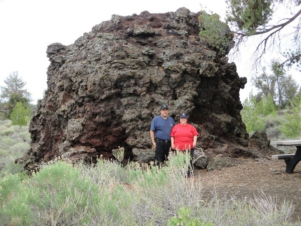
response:
{"label": "tall green and grey brush spread across the foreground", "polygon": [[157,166],[57,159],[31,177],[0,180],[0,225],[299,225],[292,205],[269,196],[205,201],[200,178],[186,178],[190,156]]}

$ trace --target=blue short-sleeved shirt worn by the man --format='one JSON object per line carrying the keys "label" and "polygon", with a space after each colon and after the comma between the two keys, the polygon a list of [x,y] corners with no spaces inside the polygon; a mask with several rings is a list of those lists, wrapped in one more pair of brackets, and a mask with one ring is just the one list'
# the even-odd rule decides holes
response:
{"label": "blue short-sleeved shirt worn by the man", "polygon": [[161,140],[171,140],[171,132],[175,126],[175,121],[172,117],[167,117],[163,119],[162,116],[156,116],[152,124],[150,124],[150,130],[155,131],[155,137]]}

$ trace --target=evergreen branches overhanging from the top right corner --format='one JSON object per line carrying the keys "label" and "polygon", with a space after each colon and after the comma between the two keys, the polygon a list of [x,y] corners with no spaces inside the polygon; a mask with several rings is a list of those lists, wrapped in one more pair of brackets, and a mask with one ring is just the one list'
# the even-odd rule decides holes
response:
{"label": "evergreen branches overhanging from the top right corner", "polygon": [[[235,36],[235,47],[239,46],[248,38],[260,36],[260,42],[254,53],[255,64],[260,62],[261,57],[269,48],[281,49],[282,37],[291,41],[293,50],[285,53],[286,60],[281,64],[292,65],[299,63],[301,59],[301,1],[296,0],[226,0],[228,5],[226,22],[231,26]],[[283,18],[270,23],[273,16],[283,10],[283,6],[290,10]],[[283,15],[283,14],[282,14]],[[286,28],[291,31],[287,32]],[[285,43],[287,45],[287,43]]]}

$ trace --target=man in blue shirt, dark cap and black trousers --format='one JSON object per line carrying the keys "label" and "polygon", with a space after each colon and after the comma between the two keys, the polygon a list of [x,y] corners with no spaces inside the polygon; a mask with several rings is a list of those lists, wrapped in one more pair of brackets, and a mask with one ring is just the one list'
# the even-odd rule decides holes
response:
{"label": "man in blue shirt, dark cap and black trousers", "polygon": [[155,147],[156,165],[167,160],[171,147],[171,131],[175,126],[175,121],[168,114],[168,105],[164,103],[160,108],[160,116],[156,116],[150,125],[150,139]]}

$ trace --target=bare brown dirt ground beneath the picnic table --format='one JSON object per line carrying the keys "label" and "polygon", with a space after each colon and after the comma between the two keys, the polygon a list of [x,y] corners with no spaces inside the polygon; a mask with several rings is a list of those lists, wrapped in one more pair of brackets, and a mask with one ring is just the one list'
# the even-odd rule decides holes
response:
{"label": "bare brown dirt ground beneath the picnic table", "polygon": [[291,201],[294,206],[292,219],[301,221],[301,162],[292,174],[285,173],[284,160],[274,159],[237,159],[233,167],[220,170],[194,171],[195,177],[201,176],[204,194],[216,190],[221,197],[253,197],[261,191],[276,197],[278,202]]}

